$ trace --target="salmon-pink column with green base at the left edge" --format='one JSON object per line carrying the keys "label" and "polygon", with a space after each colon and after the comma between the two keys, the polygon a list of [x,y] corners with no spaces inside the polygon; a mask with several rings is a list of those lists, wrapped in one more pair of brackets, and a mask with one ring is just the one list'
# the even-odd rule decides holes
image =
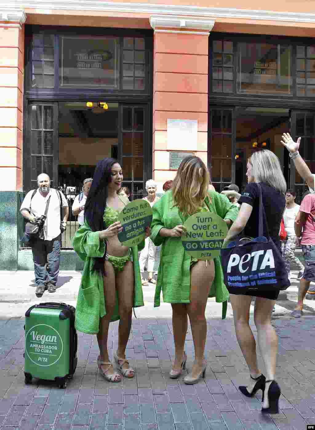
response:
{"label": "salmon-pink column with green base at the left edge", "polygon": [[0,7],[0,270],[18,267],[22,198],[24,22],[21,9]]}

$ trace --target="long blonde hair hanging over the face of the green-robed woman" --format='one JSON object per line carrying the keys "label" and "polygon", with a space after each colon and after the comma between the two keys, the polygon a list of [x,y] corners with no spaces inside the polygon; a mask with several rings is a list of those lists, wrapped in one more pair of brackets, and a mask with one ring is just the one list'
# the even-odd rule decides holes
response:
{"label": "long blonde hair hanging over the face of the green-robed woman", "polygon": [[210,175],[205,163],[196,156],[183,159],[173,181],[174,206],[184,215],[192,215],[202,208],[208,196]]}

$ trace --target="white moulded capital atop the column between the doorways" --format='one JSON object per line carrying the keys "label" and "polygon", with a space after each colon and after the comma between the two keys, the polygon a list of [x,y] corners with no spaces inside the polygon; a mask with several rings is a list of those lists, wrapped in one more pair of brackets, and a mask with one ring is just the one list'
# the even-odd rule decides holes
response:
{"label": "white moulded capital atop the column between the doorways", "polygon": [[188,30],[205,30],[210,32],[214,26],[213,19],[193,19],[186,16],[150,16],[150,25],[155,30],[158,28],[180,28]]}

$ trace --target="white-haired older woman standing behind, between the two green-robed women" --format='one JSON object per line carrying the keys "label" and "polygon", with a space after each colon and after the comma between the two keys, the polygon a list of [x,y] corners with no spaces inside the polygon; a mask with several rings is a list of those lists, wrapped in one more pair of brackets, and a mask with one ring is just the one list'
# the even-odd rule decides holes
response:
{"label": "white-haired older woman standing behind, between the two green-robed women", "polygon": [[[151,208],[159,200],[159,197],[156,197],[156,183],[149,179],[149,181],[146,182],[146,190],[147,190],[147,197],[144,197],[143,200],[146,200]],[[142,285],[148,285],[148,281],[155,284],[156,280],[153,278],[153,269],[154,269],[154,263],[155,263],[155,254],[156,254],[156,246],[150,239],[150,237],[147,237],[145,240],[145,246],[144,249],[142,249],[139,257],[139,265],[140,265],[140,272],[141,272],[141,280]],[[143,279],[143,273],[144,273],[144,266],[147,262],[147,270],[148,270],[148,281]]]}

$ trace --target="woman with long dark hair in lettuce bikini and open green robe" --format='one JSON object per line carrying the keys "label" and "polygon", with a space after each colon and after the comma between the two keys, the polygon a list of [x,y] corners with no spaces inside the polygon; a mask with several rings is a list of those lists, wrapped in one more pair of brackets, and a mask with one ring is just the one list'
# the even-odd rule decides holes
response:
{"label": "woman with long dark hair in lettuce bikini and open green robe", "polygon": [[[117,160],[104,158],[97,163],[86,200],[84,224],[73,238],[74,250],[85,261],[76,305],[76,329],[97,335],[98,370],[110,382],[119,382],[121,376],[113,369],[108,356],[109,323],[119,319],[118,348],[114,353],[116,367],[123,376],[133,378],[135,371],[125,359],[125,348],[131,330],[132,307],[144,305],[138,246],[128,248],[117,237],[122,231],[119,212],[129,203],[117,194],[122,179]],[[144,241],[139,248],[143,246]]]}

